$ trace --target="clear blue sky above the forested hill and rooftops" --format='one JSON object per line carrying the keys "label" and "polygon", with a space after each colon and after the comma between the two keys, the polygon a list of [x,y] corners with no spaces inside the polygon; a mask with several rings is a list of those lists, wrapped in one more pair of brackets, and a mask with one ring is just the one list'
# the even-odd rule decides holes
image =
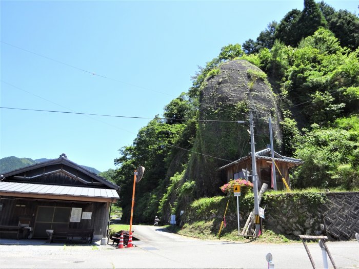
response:
{"label": "clear blue sky above the forested hill and rooftops", "polygon": [[[357,1],[327,1],[357,13]],[[162,116],[223,46],[301,1],[1,1],[1,107]],[[0,158],[115,168],[149,119],[0,109]]]}

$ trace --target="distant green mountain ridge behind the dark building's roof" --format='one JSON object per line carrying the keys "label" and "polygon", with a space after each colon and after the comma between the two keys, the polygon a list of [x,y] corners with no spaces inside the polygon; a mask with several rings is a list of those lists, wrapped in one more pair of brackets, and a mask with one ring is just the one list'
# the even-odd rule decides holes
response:
{"label": "distant green mountain ridge behind the dark building's roof", "polygon": [[[23,167],[27,167],[29,165],[33,165],[33,164],[48,161],[48,160],[51,160],[51,159],[41,158],[41,159],[33,160],[31,158],[18,158],[15,156],[5,157],[5,158],[0,159],[0,174],[5,174],[7,172],[10,172],[10,171],[13,171],[16,169],[20,169]],[[93,167],[88,167],[85,165],[81,165],[81,166],[97,175],[99,173],[101,173],[100,171],[98,171],[97,169],[95,169]]]}

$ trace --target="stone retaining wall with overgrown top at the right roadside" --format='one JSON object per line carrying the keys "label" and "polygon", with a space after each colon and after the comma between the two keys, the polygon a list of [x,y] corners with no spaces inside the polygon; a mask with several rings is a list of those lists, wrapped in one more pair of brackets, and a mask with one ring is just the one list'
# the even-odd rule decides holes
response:
{"label": "stone retaining wall with overgrown top at the right roadside", "polygon": [[266,195],[264,228],[287,235],[355,239],[359,233],[359,192]]}

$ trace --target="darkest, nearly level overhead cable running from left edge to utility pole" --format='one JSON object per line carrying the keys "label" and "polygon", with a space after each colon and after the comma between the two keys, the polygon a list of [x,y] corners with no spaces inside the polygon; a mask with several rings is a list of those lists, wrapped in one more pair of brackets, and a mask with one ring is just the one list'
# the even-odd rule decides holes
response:
{"label": "darkest, nearly level overhead cable running from left edge to utility pole", "polygon": [[9,108],[0,107],[2,109],[12,110],[25,110],[25,111],[37,111],[37,112],[51,112],[51,113],[64,113],[64,114],[75,114],[75,115],[90,115],[90,116],[102,116],[102,117],[116,117],[116,118],[135,118],[135,119],[164,119],[164,120],[195,120],[204,122],[242,122],[239,120],[215,120],[215,119],[185,119],[185,118],[158,118],[158,117],[135,117],[135,116],[119,116],[119,115],[106,115],[106,114],[94,114],[94,113],[83,113],[83,112],[70,112],[70,111],[56,111],[56,110],[42,110],[42,109],[25,109],[25,108]]}

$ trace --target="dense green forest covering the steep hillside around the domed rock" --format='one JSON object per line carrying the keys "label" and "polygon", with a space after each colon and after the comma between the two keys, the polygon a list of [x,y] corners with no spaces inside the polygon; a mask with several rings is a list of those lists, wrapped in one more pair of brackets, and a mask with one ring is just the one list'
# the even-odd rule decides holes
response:
{"label": "dense green forest covering the steep hillside around the domed rock", "polygon": [[[146,171],[136,185],[135,221],[149,222],[155,215],[168,219],[194,199],[221,193],[216,169],[246,155],[249,136],[248,125],[219,120],[248,120],[248,112],[256,111],[246,99],[233,103],[213,95],[208,101],[205,88],[232,62],[264,72],[251,68],[245,87],[250,91],[255,77],[274,96],[277,109],[269,113],[279,128],[275,150],[304,161],[292,171],[292,188],[359,188],[358,46],[357,15],[313,0],[269,23],[256,40],[224,46],[195,73],[192,87],[165,106],[163,117],[157,115],[119,150],[118,169],[106,177],[121,187],[123,218],[130,216],[138,165]],[[254,117],[260,127],[263,119],[258,113]],[[223,130],[223,136],[216,135]],[[258,132],[260,147],[268,140]]]}

